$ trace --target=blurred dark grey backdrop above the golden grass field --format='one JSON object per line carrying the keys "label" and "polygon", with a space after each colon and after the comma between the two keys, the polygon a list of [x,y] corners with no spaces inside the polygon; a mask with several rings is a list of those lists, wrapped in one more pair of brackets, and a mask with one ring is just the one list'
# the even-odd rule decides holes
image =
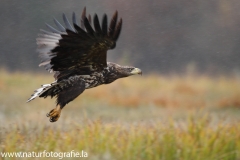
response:
{"label": "blurred dark grey backdrop above the golden grass field", "polygon": [[0,1],[0,66],[38,68],[35,39],[45,23],[54,26],[74,11],[109,17],[118,10],[123,29],[109,61],[135,65],[143,73],[226,74],[240,71],[240,1],[238,0],[69,0]]}

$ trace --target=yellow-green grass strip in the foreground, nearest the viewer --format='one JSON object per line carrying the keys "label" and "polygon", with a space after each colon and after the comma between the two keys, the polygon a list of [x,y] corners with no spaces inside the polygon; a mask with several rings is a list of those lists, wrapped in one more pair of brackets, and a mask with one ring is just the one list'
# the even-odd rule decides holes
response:
{"label": "yellow-green grass strip in the foreground, nearest the viewer", "polygon": [[17,125],[1,131],[1,151],[84,150],[89,159],[231,160],[240,157],[239,124],[211,124],[190,117],[185,124],[102,123],[86,120],[70,129]]}

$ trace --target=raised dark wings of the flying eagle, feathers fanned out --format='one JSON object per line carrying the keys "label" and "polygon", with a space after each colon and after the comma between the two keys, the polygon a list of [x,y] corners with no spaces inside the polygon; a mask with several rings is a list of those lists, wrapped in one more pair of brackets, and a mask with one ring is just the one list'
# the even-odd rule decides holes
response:
{"label": "raised dark wings of the flying eagle, feathers fanned out", "polygon": [[57,79],[63,79],[73,74],[90,74],[101,71],[107,66],[107,50],[115,48],[119,37],[122,19],[117,22],[118,12],[113,15],[108,27],[107,15],[103,16],[102,25],[98,16],[93,18],[94,29],[91,25],[91,16],[86,17],[84,8],[81,27],[78,25],[75,13],[72,16],[73,26],[65,14],[63,27],[56,19],[57,29],[47,25],[51,32],[42,31],[37,38],[37,45],[41,63],[47,70],[54,71]]}

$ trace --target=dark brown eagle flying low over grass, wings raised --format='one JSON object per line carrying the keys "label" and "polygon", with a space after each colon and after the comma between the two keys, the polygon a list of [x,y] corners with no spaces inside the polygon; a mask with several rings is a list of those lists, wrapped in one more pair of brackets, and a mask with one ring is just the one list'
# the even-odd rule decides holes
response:
{"label": "dark brown eagle flying low over grass, wings raised", "polygon": [[107,51],[116,47],[122,28],[122,19],[118,21],[117,11],[109,27],[106,14],[101,25],[95,14],[93,29],[91,16],[86,17],[86,8],[82,12],[80,25],[74,12],[73,25],[65,14],[63,21],[65,27],[54,18],[57,29],[46,24],[50,31],[41,30],[37,38],[37,52],[41,58],[39,66],[53,72],[55,81],[42,85],[27,101],[30,102],[36,97],[56,97],[56,108],[47,114],[50,122],[56,122],[63,107],[85,89],[142,74],[138,68],[107,62]]}

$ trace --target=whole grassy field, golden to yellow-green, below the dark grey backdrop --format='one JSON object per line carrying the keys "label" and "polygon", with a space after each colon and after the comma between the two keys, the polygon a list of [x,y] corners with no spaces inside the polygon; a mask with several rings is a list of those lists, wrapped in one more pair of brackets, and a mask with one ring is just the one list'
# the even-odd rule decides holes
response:
{"label": "whole grassy field, golden to yellow-green, below the dark grey backdrop", "polygon": [[0,70],[0,152],[84,150],[88,158],[80,159],[91,160],[240,159],[237,77],[121,79],[86,90],[56,123],[46,117],[55,100],[25,103],[52,81],[48,74]]}

